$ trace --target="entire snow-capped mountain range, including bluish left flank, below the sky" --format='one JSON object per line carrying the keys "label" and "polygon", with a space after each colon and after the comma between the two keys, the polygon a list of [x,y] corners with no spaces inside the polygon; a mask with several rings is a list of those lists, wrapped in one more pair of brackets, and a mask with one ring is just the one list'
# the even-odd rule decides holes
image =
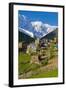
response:
{"label": "entire snow-capped mountain range, including bluish left flank, below the sky", "polygon": [[18,27],[20,32],[33,38],[42,38],[57,28],[57,26],[44,24],[42,21],[30,21],[29,18],[20,14],[18,18]]}

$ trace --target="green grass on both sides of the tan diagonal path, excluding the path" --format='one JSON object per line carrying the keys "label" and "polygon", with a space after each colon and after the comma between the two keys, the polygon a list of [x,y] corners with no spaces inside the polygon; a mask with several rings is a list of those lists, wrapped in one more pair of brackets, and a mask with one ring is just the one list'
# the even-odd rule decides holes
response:
{"label": "green grass on both sides of the tan diagonal path, excluding the path", "polygon": [[[37,72],[37,69],[39,69],[40,65],[37,64],[31,64],[30,63],[31,56],[28,54],[24,54],[22,52],[19,53],[18,57],[18,72],[19,76],[22,74],[26,74],[27,72],[33,71]],[[50,71],[43,71],[36,75],[31,75],[29,78],[48,78],[48,77],[57,77],[58,76],[58,69],[55,68]],[[26,77],[25,77],[26,78]]]}

